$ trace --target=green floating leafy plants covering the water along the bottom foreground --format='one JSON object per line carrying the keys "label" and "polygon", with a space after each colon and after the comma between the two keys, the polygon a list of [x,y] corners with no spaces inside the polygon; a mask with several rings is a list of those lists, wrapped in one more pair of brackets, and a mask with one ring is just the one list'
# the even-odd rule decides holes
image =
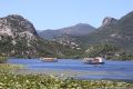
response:
{"label": "green floating leafy plants covering the water along the bottom foreground", "polygon": [[9,72],[16,68],[18,66],[0,65],[0,89],[129,89],[133,87],[133,82],[124,81],[58,79],[44,75]]}

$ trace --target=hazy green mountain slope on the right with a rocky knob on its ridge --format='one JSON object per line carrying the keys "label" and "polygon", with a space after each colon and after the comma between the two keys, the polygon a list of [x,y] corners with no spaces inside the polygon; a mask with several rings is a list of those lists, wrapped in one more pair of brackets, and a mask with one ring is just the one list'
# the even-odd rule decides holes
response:
{"label": "hazy green mountain slope on the right with a rocky knob on its ridge", "polygon": [[113,43],[122,50],[133,52],[133,11],[121,19],[105,18],[98,30],[79,40],[88,48],[90,44]]}

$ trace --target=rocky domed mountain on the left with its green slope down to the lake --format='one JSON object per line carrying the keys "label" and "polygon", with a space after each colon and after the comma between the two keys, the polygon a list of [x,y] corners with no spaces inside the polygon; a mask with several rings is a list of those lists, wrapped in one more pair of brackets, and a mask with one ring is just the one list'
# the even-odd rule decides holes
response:
{"label": "rocky domed mountain on the left with its green slope down to the lake", "polygon": [[0,56],[63,57],[71,52],[69,46],[41,39],[33,24],[21,16],[0,18]]}

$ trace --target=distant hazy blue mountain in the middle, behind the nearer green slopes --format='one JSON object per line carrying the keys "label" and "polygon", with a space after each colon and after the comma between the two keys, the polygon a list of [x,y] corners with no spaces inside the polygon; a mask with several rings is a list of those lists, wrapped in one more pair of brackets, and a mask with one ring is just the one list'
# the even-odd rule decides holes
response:
{"label": "distant hazy blue mountain in the middle, behind the nearer green slopes", "polygon": [[43,30],[41,32],[38,32],[40,37],[43,39],[52,40],[57,37],[60,36],[85,36],[89,32],[94,31],[95,28],[86,24],[86,23],[78,23],[75,26],[62,28],[62,29],[57,29],[57,30]]}

